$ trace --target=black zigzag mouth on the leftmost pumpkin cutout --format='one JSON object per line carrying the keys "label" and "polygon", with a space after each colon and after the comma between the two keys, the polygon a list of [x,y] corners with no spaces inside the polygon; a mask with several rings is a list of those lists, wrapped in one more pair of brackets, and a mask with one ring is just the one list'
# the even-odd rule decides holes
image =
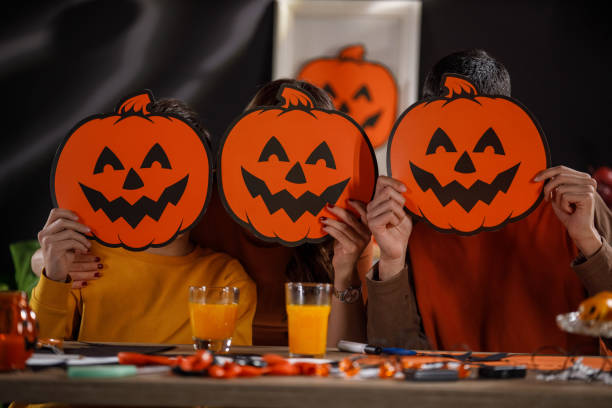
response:
{"label": "black zigzag mouth on the leftmost pumpkin cutout", "polygon": [[142,196],[134,204],[128,203],[123,197],[108,201],[104,194],[98,190],[87,187],[82,183],[79,183],[79,185],[94,211],[101,209],[112,222],[123,218],[130,227],[136,228],[145,216],[159,221],[169,203],[177,205],[185,192],[188,180],[189,174],[166,187],[157,201]]}

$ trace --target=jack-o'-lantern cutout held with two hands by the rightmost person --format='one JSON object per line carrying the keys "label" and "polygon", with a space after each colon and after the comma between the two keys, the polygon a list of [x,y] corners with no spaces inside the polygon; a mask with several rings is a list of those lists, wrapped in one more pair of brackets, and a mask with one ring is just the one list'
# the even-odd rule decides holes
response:
{"label": "jack-o'-lantern cutout held with two hands by the rightmost person", "polygon": [[412,105],[389,138],[387,169],[408,187],[406,209],[464,235],[525,217],[542,198],[533,178],[550,163],[540,126],[516,100],[478,95],[467,78],[443,83],[448,94]]}

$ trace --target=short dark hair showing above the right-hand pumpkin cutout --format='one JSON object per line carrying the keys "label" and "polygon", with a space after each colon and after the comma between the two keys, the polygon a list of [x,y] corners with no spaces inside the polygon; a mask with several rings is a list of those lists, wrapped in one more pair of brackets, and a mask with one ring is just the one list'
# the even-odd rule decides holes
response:
{"label": "short dark hair showing above the right-hand pumpkin cutout", "polygon": [[510,96],[510,74],[504,65],[484,50],[470,49],[452,53],[438,61],[425,76],[423,98],[446,94],[444,74],[468,77],[479,94]]}

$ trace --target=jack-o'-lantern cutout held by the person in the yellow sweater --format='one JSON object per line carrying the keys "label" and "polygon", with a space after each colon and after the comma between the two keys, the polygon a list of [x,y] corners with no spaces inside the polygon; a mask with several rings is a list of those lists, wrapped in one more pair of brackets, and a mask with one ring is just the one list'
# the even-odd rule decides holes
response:
{"label": "jack-o'-lantern cutout held by the person in the yellow sweater", "polygon": [[181,118],[152,114],[152,95],[81,121],[59,147],[51,195],[91,228],[90,238],[130,250],[163,246],[204,213],[212,167],[202,136]]}

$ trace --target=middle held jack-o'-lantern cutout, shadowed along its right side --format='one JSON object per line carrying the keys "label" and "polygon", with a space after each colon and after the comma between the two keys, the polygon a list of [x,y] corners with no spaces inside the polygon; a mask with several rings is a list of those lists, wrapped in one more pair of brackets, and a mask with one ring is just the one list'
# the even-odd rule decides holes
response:
{"label": "middle held jack-o'-lantern cutout, shadowed along its right side", "polygon": [[227,130],[217,180],[222,202],[257,237],[296,246],[321,242],[326,205],[368,202],[377,178],[367,136],[341,112],[313,107],[304,90],[285,85],[282,106],[252,109]]}

